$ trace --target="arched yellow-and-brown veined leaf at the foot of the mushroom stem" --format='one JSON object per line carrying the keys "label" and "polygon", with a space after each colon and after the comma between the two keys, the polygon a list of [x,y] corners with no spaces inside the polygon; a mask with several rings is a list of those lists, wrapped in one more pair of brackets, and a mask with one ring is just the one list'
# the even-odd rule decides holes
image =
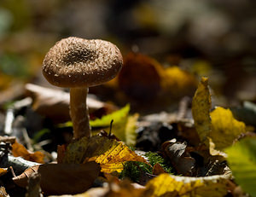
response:
{"label": "arched yellow-and-brown veined leaf at the foot of the mushroom stem", "polygon": [[135,154],[124,142],[110,139],[108,136],[83,137],[79,141],[71,142],[62,160],[64,164],[82,164],[96,161],[103,172],[122,171],[125,161],[146,162],[143,157]]}

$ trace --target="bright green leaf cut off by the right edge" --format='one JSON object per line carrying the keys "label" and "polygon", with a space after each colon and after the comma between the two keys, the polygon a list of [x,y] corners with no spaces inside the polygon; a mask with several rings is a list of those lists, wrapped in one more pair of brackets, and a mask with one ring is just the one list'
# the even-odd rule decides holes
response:
{"label": "bright green leaf cut off by the right edge", "polygon": [[256,196],[256,138],[246,138],[225,149],[236,183],[251,196]]}

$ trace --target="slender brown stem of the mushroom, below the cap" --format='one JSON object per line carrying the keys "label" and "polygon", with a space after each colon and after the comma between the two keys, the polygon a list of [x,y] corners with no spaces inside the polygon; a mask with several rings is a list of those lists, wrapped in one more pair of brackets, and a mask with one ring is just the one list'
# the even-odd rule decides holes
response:
{"label": "slender brown stem of the mushroom, below the cap", "polygon": [[86,105],[88,88],[70,89],[70,116],[73,122],[73,137],[90,136],[89,113]]}

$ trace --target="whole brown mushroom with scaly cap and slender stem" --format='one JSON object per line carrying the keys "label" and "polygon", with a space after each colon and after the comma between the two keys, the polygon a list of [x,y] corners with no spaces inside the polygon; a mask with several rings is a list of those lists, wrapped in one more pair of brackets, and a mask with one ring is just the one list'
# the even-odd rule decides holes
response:
{"label": "whole brown mushroom with scaly cap and slender stem", "polygon": [[123,66],[119,49],[100,39],[64,38],[44,57],[43,74],[50,84],[70,88],[69,113],[75,139],[90,136],[88,88],[114,78]]}

